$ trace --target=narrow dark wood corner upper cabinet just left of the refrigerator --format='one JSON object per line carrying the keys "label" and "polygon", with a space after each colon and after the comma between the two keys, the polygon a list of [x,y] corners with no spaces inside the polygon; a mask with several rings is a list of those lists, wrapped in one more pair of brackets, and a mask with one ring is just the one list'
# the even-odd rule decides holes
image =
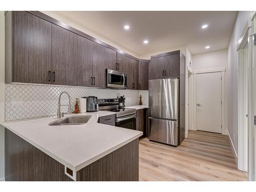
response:
{"label": "narrow dark wood corner upper cabinet just left of the refrigerator", "polygon": [[148,90],[148,63],[139,61],[139,90]]}

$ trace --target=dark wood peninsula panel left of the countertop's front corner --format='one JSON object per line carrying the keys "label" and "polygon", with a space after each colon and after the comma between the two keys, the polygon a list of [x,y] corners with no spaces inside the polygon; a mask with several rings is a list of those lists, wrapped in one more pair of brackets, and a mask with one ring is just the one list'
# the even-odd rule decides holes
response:
{"label": "dark wood peninsula panel left of the countertop's front corner", "polygon": [[5,129],[5,181],[73,181],[64,165]]}

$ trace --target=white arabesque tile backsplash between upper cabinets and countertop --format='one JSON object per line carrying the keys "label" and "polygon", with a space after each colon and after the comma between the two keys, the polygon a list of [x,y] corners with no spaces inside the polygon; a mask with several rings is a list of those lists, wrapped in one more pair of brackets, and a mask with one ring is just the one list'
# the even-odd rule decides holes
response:
{"label": "white arabesque tile backsplash between upper cabinets and countertop", "polygon": [[[71,105],[74,110],[75,98],[97,96],[100,98],[116,98],[118,94],[125,96],[125,105],[138,105],[139,95],[142,103],[148,104],[148,91],[112,90],[81,87],[39,86],[31,84],[6,84],[5,93],[5,120],[26,119],[51,116],[57,114],[58,96],[62,91],[71,95]],[[12,99],[22,99],[20,106],[13,106]],[[62,95],[61,104],[68,103],[66,94]],[[62,111],[67,111],[63,106]]]}

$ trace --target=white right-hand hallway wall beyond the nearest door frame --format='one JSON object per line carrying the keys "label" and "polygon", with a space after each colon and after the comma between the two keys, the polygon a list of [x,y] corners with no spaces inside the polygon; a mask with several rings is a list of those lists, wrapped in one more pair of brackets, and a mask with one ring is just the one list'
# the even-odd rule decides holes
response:
{"label": "white right-hand hallway wall beyond the nearest door frame", "polygon": [[237,43],[253,11],[239,11],[228,46],[228,132],[238,153],[238,53]]}

